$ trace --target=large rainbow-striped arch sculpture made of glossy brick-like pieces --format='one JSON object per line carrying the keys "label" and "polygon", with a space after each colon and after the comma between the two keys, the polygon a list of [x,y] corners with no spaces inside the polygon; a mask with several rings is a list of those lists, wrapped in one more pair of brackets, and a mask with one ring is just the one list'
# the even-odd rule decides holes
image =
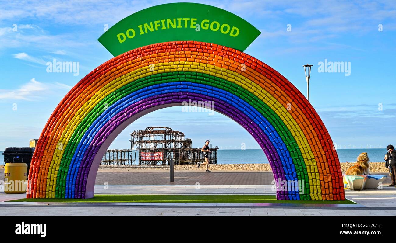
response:
{"label": "large rainbow-striped arch sculpture made of glossy brick-like pieces", "polygon": [[285,77],[241,51],[197,41],[147,45],[105,62],[53,111],[36,145],[27,198],[91,198],[106,149],[131,122],[188,100],[243,126],[274,179],[302,181],[280,200],[344,200],[341,167],[320,117]]}

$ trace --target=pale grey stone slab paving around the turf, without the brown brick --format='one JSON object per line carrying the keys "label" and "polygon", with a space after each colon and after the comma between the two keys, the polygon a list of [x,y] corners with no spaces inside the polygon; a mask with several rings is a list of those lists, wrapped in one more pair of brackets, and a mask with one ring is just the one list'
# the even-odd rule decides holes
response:
{"label": "pale grey stone slab paving around the turf, without the brown brick", "polygon": [[[98,194],[274,194],[270,186],[96,186]],[[114,203],[112,205],[12,205],[0,202],[2,215],[396,215],[396,188],[383,190],[346,190],[346,198],[364,207],[280,206],[202,206],[144,205],[144,203]],[[1,201],[23,198],[24,194],[0,193]],[[134,205],[131,205],[134,204]],[[181,203],[183,204],[183,203]]]}

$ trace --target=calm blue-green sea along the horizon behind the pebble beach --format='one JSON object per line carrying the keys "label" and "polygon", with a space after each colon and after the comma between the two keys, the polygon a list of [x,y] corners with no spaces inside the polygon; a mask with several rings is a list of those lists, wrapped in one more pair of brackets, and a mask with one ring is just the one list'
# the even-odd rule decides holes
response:
{"label": "calm blue-green sea along the horizon behind the pebble beach", "polygon": [[[356,162],[356,157],[367,152],[371,162],[385,162],[386,149],[337,149],[340,162]],[[268,159],[261,149],[219,149],[217,164],[268,164]],[[4,164],[3,151],[0,151],[0,164]]]}

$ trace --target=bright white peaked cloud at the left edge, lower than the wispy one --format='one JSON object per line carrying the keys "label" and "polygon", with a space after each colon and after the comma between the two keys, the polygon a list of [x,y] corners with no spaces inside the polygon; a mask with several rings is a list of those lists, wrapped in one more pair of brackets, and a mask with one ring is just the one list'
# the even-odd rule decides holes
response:
{"label": "bright white peaked cloud at the left edge, lower than the wispy one", "polygon": [[21,85],[19,89],[0,89],[0,100],[37,100],[38,98],[48,96],[52,91],[70,90],[71,88],[69,85],[63,83],[42,83],[32,78],[29,82]]}

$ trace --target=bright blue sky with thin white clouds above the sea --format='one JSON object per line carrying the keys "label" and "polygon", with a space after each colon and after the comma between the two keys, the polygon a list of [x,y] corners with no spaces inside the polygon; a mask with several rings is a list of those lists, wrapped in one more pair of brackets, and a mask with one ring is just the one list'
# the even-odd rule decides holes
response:
{"label": "bright blue sky with thin white clouds above the sea", "polygon": [[[112,58],[97,41],[105,24],[112,26],[136,11],[169,2],[177,1],[1,1],[0,150],[28,146],[29,139],[38,138],[63,96]],[[280,72],[303,94],[307,88],[302,65],[314,65],[310,102],[339,146],[396,143],[395,1],[199,3],[226,9],[258,28],[261,35],[245,52]],[[54,58],[79,62],[79,75],[48,73],[46,62]],[[350,75],[318,72],[318,63],[325,60],[350,62]],[[182,112],[181,107],[138,119],[110,148],[128,148],[129,133],[147,126],[184,132],[194,147],[208,138],[223,149],[239,148],[241,143],[258,149],[254,139],[227,117]]]}

